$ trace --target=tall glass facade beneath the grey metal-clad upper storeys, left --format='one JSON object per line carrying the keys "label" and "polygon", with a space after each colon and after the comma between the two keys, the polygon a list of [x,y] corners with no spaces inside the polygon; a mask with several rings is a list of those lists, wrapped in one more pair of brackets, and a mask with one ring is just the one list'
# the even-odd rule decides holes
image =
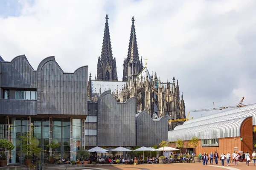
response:
{"label": "tall glass facade beneath the grey metal-clad upper storeys, left", "polygon": [[[5,138],[5,117],[0,119],[0,137]],[[29,120],[24,118],[9,118],[9,139],[15,145],[15,148],[9,151],[9,164],[24,163],[25,153],[22,153],[22,140],[20,136],[25,136],[29,129]],[[73,133],[70,133],[70,125],[73,124]],[[41,153],[33,155],[33,159],[43,158],[45,163],[49,159],[49,137],[51,133],[49,118],[31,119],[31,130],[33,135],[38,139],[38,147],[42,148]],[[55,159],[70,160],[70,151],[73,152],[73,160],[76,160],[76,151],[81,148],[81,119],[52,119],[52,141],[59,144],[58,148],[52,150],[52,156]],[[70,134],[73,136],[70,137]],[[73,140],[73,148],[70,149],[70,140]]]}

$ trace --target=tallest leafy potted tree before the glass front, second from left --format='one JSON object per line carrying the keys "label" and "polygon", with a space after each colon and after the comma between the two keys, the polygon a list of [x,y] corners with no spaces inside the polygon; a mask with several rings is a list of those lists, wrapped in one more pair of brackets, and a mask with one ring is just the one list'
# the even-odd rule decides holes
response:
{"label": "tallest leafy potted tree before the glass front, second from left", "polygon": [[29,165],[32,162],[32,153],[41,153],[41,148],[38,147],[39,141],[33,136],[32,130],[28,131],[25,136],[20,136],[22,139],[22,153],[25,153],[24,163]]}

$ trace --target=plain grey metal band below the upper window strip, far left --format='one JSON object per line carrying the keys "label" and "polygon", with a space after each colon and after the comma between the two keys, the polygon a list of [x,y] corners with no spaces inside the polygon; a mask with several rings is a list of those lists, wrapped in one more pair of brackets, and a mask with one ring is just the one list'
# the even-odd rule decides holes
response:
{"label": "plain grey metal band below the upper window strip, far left", "polygon": [[36,115],[36,100],[0,99],[2,115]]}

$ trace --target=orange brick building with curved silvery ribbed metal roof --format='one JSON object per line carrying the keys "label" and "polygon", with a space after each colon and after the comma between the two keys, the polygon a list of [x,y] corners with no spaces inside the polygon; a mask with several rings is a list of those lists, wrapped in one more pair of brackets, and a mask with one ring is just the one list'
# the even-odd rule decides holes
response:
{"label": "orange brick building with curved silvery ribbed metal roof", "polygon": [[[187,145],[193,136],[199,137],[198,146]],[[168,141],[176,147],[177,139],[184,143],[183,152],[233,153],[256,151],[256,104],[203,116],[184,122],[168,132]],[[185,148],[186,146],[186,148]]]}

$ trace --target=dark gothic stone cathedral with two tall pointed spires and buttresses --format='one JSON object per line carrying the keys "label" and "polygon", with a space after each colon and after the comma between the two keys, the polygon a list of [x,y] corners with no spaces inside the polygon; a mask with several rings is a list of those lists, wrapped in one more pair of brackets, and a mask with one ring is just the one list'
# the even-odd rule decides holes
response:
{"label": "dark gothic stone cathedral with two tall pointed spires and buttresses", "polygon": [[[131,97],[136,98],[137,113],[147,110],[152,119],[169,116],[170,120],[186,119],[183,94],[180,99],[180,89],[175,77],[172,82],[167,79],[161,82],[157,73],[148,71],[147,63],[143,66],[139,57],[134,17],[132,17],[131,34],[128,55],[123,61],[122,81],[118,81],[116,73],[116,58],[113,59],[111,40],[108,26],[108,15],[105,17],[105,30],[101,57],[98,58],[97,75],[95,80],[88,81],[88,98],[97,102],[99,95],[105,90],[111,90],[117,102],[125,102]],[[105,86],[104,86],[105,85]],[[108,88],[105,88],[108,86]],[[110,87],[111,86],[111,87]],[[122,87],[118,89],[118,86]],[[94,91],[95,90],[95,91]],[[169,130],[183,124],[183,121],[169,123]]]}

